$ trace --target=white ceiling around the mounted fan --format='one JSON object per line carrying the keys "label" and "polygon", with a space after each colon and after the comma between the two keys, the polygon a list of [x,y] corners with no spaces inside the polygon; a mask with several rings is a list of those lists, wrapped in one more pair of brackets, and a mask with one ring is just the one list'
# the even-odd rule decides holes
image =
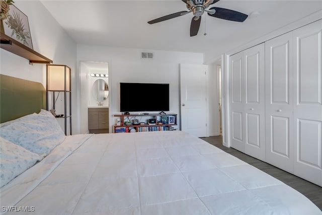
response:
{"label": "white ceiling around the mounted fan", "polygon": [[322,10],[321,0],[221,0],[211,7],[248,15],[258,12],[259,16],[238,23],[206,15],[206,25],[205,16],[202,16],[198,35],[190,37],[192,13],[147,24],[155,18],[186,10],[181,0],[41,2],[77,44],[214,52],[218,55]]}

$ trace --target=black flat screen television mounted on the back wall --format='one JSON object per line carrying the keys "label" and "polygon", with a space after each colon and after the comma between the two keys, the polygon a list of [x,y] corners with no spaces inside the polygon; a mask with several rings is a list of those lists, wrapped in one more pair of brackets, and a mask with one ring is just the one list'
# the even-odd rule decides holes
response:
{"label": "black flat screen television mounted on the back wall", "polygon": [[169,84],[120,83],[120,111],[169,111]]}

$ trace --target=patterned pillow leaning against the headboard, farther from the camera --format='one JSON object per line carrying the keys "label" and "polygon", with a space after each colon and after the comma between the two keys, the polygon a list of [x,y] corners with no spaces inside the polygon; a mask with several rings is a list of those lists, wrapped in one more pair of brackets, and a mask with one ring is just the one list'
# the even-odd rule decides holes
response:
{"label": "patterned pillow leaning against the headboard, farther from the camera", "polygon": [[65,139],[57,120],[46,110],[1,127],[0,135],[43,157]]}

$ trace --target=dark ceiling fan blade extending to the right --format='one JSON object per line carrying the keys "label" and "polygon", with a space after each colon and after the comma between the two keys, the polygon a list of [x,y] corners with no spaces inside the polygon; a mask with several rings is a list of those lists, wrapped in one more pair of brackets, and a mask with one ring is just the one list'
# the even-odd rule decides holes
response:
{"label": "dark ceiling fan blade extending to the right", "polygon": [[211,17],[216,17],[219,19],[224,19],[224,20],[230,20],[230,21],[235,21],[235,22],[244,22],[246,20],[246,18],[248,17],[248,15],[237,12],[237,11],[233,11],[233,10],[229,10],[229,9],[225,9],[225,8],[210,8],[210,10],[215,9],[216,13],[214,14],[209,14],[209,16]]}

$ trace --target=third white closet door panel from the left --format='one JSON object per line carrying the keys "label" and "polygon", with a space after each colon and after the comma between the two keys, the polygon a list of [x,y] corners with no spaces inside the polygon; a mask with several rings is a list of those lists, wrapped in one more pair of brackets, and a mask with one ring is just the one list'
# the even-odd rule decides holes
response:
{"label": "third white closet door panel from the left", "polygon": [[293,172],[292,33],[265,42],[266,161]]}

